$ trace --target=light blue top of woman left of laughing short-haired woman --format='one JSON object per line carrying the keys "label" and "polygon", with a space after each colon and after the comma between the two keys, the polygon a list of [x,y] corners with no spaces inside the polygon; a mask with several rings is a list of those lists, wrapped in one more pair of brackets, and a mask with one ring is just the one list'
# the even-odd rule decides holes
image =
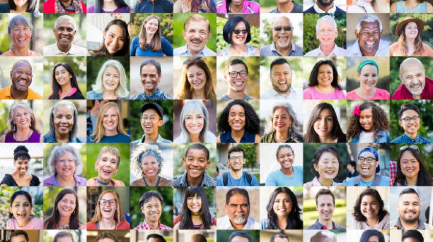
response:
{"label": "light blue top of woman left of laughing short-haired woman", "polygon": [[293,167],[293,176],[288,177],[280,169],[269,173],[265,186],[302,186],[303,169],[301,166]]}

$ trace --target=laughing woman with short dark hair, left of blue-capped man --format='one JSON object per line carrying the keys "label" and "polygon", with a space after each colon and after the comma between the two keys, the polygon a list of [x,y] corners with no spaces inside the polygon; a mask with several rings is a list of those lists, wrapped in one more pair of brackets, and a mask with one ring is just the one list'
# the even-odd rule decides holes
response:
{"label": "laughing woman with short dark hair, left of blue-capped man", "polygon": [[339,186],[334,181],[338,172],[343,170],[343,163],[338,150],[333,145],[326,145],[317,149],[311,160],[310,171],[314,175],[312,181],[305,183],[305,186]]}

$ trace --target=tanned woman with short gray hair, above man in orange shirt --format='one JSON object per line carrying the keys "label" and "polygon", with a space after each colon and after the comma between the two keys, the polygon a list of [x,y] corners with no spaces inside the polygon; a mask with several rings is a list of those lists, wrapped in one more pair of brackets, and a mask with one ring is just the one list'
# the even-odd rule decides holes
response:
{"label": "tanned woman with short gray hair, above man in orange shirt", "polygon": [[42,56],[29,49],[33,36],[33,25],[24,16],[14,16],[7,25],[7,33],[11,38],[12,46],[1,56]]}

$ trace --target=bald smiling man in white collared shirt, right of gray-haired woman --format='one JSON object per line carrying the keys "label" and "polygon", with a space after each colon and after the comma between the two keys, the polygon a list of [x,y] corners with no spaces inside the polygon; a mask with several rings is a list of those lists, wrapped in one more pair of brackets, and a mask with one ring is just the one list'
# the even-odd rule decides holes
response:
{"label": "bald smiling man in white collared shirt, right of gray-haired woman", "polygon": [[54,23],[54,36],[57,42],[43,47],[44,56],[87,56],[87,49],[72,44],[77,33],[75,20],[68,16],[60,16]]}

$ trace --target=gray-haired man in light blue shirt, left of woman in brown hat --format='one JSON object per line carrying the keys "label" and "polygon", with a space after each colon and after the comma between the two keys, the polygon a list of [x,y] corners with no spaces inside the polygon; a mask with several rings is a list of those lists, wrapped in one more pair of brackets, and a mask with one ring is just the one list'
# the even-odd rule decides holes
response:
{"label": "gray-haired man in light blue shirt, left of woman in brown hat", "polygon": [[347,56],[389,56],[390,43],[381,40],[382,21],[373,14],[363,15],[356,24],[356,41],[347,48]]}

